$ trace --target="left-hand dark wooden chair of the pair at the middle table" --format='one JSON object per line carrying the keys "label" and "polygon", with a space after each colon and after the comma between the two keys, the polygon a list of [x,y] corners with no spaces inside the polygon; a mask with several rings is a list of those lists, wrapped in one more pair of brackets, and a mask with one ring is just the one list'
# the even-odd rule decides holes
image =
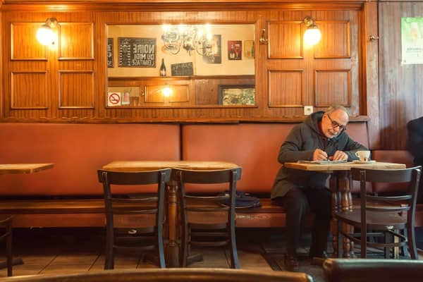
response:
{"label": "left-hand dark wooden chair of the pair at the middle table", "polygon": [[[141,172],[97,171],[103,183],[106,207],[106,260],[104,269],[114,269],[115,250],[157,250],[159,267],[164,260],[164,192],[171,169]],[[157,184],[154,195],[122,197],[121,185]],[[143,192],[140,188],[140,193]],[[155,217],[155,219],[154,219]]]}

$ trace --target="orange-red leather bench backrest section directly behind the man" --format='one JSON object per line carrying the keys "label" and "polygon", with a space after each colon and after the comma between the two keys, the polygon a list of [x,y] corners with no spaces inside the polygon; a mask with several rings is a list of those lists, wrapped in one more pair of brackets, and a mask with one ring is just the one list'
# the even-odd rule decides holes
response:
{"label": "orange-red leather bench backrest section directly behind the man", "polygon": [[[237,189],[269,194],[281,167],[277,157],[295,123],[182,125],[182,159],[231,161],[243,167]],[[348,134],[369,145],[367,124],[348,124]],[[358,186],[357,186],[358,187]]]}

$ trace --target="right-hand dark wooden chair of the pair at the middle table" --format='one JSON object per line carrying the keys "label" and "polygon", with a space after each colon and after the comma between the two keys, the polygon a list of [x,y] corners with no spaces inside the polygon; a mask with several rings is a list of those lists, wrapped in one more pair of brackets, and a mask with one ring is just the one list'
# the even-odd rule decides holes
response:
{"label": "right-hand dark wooden chair of the pair at the middle table", "polygon": [[[238,269],[238,252],[235,241],[235,191],[241,168],[221,171],[188,171],[176,169],[180,196],[182,224],[180,265],[189,264],[191,246],[229,246],[231,268]],[[185,192],[185,183],[215,184],[222,186],[220,194],[193,195]],[[221,203],[226,201],[228,205]]]}

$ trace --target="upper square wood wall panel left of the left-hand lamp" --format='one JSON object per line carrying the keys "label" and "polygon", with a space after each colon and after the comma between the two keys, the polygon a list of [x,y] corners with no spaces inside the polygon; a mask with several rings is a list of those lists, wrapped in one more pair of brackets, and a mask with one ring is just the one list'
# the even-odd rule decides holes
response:
{"label": "upper square wood wall panel left of the left-hand lamp", "polygon": [[36,34],[42,23],[11,23],[11,60],[47,61],[47,47]]}

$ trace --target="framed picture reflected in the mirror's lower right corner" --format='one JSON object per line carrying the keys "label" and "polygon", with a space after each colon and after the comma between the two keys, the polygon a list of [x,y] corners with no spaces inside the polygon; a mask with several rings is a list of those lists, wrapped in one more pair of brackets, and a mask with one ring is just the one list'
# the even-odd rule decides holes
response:
{"label": "framed picture reflected in the mirror's lower right corner", "polygon": [[219,104],[223,106],[254,106],[255,86],[219,85]]}

